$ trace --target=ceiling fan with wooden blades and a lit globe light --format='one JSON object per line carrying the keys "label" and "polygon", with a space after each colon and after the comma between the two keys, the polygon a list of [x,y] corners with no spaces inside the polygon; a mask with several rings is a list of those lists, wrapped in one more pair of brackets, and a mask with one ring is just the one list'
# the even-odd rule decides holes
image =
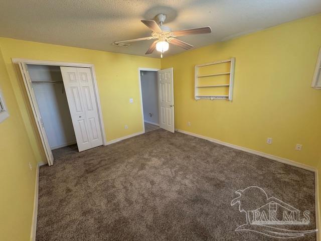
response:
{"label": "ceiling fan with wooden blades and a lit globe light", "polygon": [[166,15],[165,14],[158,14],[156,16],[159,25],[153,20],[141,20],[141,22],[146,25],[149,29],[151,29],[152,33],[150,37],[144,37],[139,39],[130,39],[125,41],[117,41],[114,42],[114,45],[123,45],[130,42],[136,42],[141,40],[150,40],[156,39],[149,47],[145,54],[151,54],[155,49],[158,52],[161,52],[161,58],[163,58],[163,53],[169,50],[169,43],[179,46],[183,49],[191,49],[193,45],[185,43],[175,37],[185,36],[185,35],[192,35],[192,34],[209,34],[212,32],[210,27],[201,27],[195,29],[185,29],[179,31],[173,31],[172,29],[164,26],[163,23],[165,22]]}

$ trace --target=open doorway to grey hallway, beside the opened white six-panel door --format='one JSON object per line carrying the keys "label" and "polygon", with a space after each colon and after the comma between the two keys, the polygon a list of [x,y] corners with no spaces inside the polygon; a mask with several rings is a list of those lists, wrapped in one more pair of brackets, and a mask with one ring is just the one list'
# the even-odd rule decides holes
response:
{"label": "open doorway to grey hallway, beside the opened white six-panel door", "polygon": [[157,71],[140,70],[142,112],[145,133],[159,129]]}

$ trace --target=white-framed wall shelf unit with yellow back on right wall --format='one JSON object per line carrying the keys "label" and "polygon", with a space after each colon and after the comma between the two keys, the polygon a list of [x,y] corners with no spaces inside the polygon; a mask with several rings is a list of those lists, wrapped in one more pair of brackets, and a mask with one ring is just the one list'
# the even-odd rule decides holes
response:
{"label": "white-framed wall shelf unit with yellow back on right wall", "polygon": [[232,100],[235,58],[195,65],[195,99]]}

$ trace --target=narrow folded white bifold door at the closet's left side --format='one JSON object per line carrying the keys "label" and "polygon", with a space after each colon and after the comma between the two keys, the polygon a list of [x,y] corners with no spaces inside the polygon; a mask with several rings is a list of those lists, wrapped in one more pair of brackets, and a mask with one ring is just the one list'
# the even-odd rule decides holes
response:
{"label": "narrow folded white bifold door at the closet's left side", "polygon": [[45,127],[44,127],[44,123],[42,121],[41,118],[41,114],[40,114],[40,110],[38,107],[38,103],[37,103],[37,99],[36,99],[36,95],[35,92],[32,88],[32,83],[31,83],[31,79],[29,76],[29,72],[28,72],[28,66],[25,63],[18,63],[19,64],[19,68],[22,74],[22,78],[24,80],[24,84],[27,90],[27,94],[28,94],[28,98],[29,98],[29,102],[31,104],[31,109],[33,111],[33,115],[35,117],[35,121],[36,121],[36,125],[38,128],[38,132],[40,134],[40,139],[41,139],[41,143],[43,145],[45,154],[46,154],[46,158],[48,161],[48,165],[51,166],[54,164],[54,156],[52,155],[51,152],[51,148],[48,142],[48,138],[46,135],[46,131],[45,131]]}

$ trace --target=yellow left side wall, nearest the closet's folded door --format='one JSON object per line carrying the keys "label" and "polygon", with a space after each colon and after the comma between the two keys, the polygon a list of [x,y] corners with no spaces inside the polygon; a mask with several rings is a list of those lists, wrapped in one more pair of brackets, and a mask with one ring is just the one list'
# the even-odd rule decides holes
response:
{"label": "yellow left side wall, nearest the closet's folded door", "polygon": [[[0,123],[0,239],[29,240],[37,162],[0,49],[0,89],[8,112]],[[30,170],[29,163],[33,166]]]}

